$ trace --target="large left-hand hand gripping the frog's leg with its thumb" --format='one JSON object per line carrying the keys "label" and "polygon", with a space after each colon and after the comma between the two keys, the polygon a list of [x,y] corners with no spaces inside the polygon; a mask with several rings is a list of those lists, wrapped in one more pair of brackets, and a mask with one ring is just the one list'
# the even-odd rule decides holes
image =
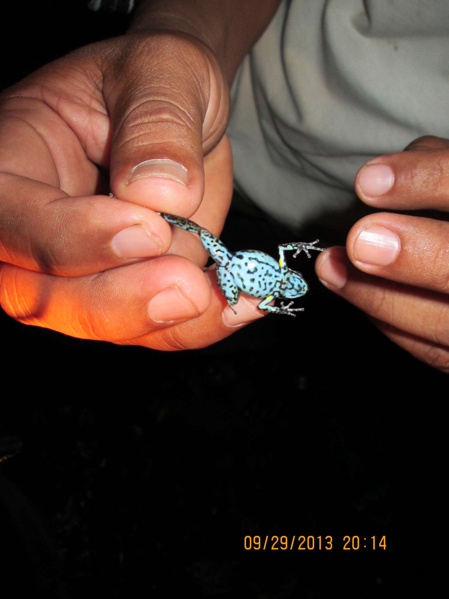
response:
{"label": "large left-hand hand gripping the frog's leg with its thumb", "polygon": [[[213,53],[175,33],[92,44],[2,92],[2,308],[75,337],[157,349],[235,330],[198,237],[172,233],[154,212],[221,232],[228,116]],[[257,303],[239,302],[241,322],[262,316]]]}

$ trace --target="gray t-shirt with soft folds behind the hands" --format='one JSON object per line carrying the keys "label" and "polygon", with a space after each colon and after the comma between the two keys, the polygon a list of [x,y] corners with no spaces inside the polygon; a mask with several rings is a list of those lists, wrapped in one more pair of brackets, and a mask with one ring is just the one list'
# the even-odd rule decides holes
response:
{"label": "gray t-shirt with soft folds behind the hands", "polygon": [[238,189],[295,227],[350,211],[370,158],[449,138],[449,1],[284,0],[231,96]]}

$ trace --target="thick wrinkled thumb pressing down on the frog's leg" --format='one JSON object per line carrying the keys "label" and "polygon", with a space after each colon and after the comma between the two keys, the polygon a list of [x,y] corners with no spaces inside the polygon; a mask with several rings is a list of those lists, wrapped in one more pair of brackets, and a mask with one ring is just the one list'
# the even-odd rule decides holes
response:
{"label": "thick wrinkled thumb pressing down on the frog's leg", "polygon": [[130,35],[108,60],[104,95],[114,195],[191,216],[204,193],[203,153],[218,143],[229,115],[211,52],[180,34]]}

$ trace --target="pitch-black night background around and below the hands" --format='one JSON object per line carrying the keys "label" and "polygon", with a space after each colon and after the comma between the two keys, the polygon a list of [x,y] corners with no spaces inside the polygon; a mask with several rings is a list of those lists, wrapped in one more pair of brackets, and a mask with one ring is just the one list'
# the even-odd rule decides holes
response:
{"label": "pitch-black night background around and below the hands", "polygon": [[[126,17],[82,2],[25,7],[5,19],[1,87],[126,30]],[[345,238],[325,219],[294,233],[236,198],[222,239],[275,255],[295,236]],[[23,441],[0,464],[4,588],[371,598],[439,582],[427,558],[447,501],[447,377],[298,259],[311,287],[304,313],[193,352],[77,340],[0,313],[0,437]],[[254,535],[286,535],[289,546],[293,535],[323,545],[331,535],[333,548],[245,550]],[[343,550],[345,535],[360,549]],[[372,550],[370,537],[384,535],[386,550]]]}

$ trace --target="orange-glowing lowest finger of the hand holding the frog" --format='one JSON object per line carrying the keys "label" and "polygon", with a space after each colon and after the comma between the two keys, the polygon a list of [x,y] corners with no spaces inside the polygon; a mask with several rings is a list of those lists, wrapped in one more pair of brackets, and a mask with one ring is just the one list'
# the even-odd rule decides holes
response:
{"label": "orange-glowing lowest finger of the hand holding the frog", "polygon": [[0,265],[0,304],[14,319],[119,344],[205,347],[263,317],[259,303],[242,296],[234,314],[214,271],[175,256],[76,279]]}

